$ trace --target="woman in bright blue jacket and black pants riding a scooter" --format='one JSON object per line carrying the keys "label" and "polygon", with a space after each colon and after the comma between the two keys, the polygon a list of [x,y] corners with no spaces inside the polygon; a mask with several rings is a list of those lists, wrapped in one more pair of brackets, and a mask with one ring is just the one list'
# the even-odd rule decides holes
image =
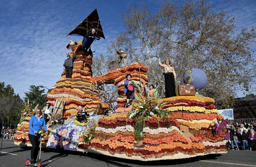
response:
{"label": "woman in bright blue jacket and black pants riding a scooter", "polygon": [[41,130],[41,127],[44,128],[46,133],[48,133],[45,125],[45,120],[42,117],[42,110],[40,108],[36,108],[36,110],[32,114],[32,117],[29,120],[28,138],[32,144],[30,165],[36,163],[40,144],[40,134],[38,134],[38,132]]}

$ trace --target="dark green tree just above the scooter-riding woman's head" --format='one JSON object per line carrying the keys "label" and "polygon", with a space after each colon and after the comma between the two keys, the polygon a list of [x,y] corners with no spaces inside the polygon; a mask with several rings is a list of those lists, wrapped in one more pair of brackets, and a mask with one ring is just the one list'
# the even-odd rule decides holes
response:
{"label": "dark green tree just above the scooter-riding woman's head", "polygon": [[27,102],[29,100],[29,104],[32,104],[35,101],[34,105],[38,104],[39,108],[43,108],[46,102],[46,94],[44,94],[44,89],[40,90],[39,86],[30,85],[29,91],[24,92],[25,96],[24,100]]}

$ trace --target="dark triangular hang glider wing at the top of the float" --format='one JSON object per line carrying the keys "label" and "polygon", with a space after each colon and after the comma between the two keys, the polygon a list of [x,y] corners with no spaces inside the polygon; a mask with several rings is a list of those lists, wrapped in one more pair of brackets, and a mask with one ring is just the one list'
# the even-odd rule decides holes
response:
{"label": "dark triangular hang glider wing at the top of the float", "polygon": [[84,37],[88,32],[92,31],[92,29],[95,29],[96,33],[101,38],[105,39],[97,9],[95,9],[88,17],[86,17],[86,19],[84,19],[84,21],[82,21],[68,35],[81,35]]}

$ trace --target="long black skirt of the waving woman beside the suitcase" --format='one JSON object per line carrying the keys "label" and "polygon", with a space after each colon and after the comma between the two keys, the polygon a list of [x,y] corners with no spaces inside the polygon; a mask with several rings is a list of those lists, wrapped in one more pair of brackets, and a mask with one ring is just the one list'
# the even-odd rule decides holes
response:
{"label": "long black skirt of the waving woman beside the suitcase", "polygon": [[165,98],[176,96],[175,79],[173,73],[164,73]]}

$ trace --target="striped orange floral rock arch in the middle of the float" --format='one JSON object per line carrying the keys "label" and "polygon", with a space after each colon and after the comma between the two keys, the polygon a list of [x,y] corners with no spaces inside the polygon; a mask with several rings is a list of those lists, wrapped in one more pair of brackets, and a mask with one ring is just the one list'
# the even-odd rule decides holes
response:
{"label": "striped orange floral rock arch in the middle of the float", "polygon": [[139,63],[133,63],[126,67],[118,68],[117,70],[111,70],[107,74],[100,77],[91,78],[91,82],[102,83],[105,84],[115,84],[118,87],[118,97],[117,97],[117,108],[124,107],[126,103],[126,95],[124,94],[124,81],[126,80],[126,75],[131,74],[132,81],[140,84],[145,82],[148,83],[149,79],[147,78],[148,67],[143,66]]}

